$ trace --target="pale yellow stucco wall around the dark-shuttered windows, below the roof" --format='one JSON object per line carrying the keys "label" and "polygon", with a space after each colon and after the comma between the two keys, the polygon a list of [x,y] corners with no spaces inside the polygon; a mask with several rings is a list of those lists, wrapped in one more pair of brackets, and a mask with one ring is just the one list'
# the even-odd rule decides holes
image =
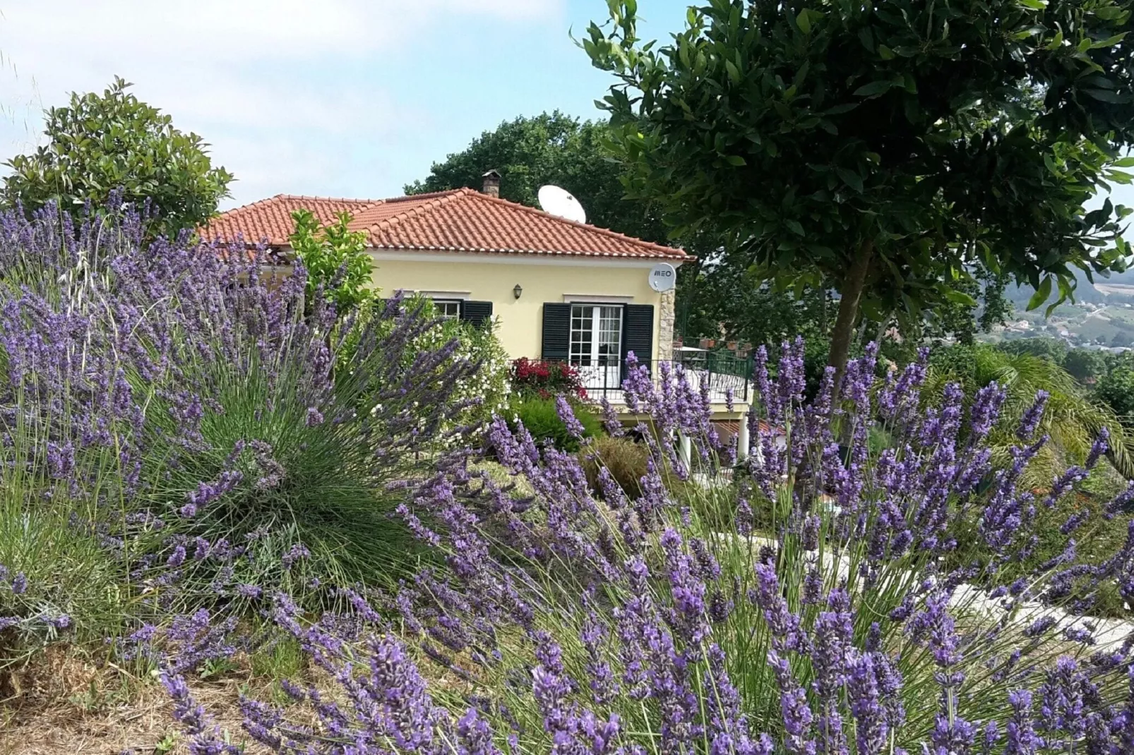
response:
{"label": "pale yellow stucco wall around the dark-shuttered windows, below the roof", "polygon": [[[378,251],[374,285],[386,292],[405,289],[435,292],[442,298],[440,294],[448,291],[492,302],[497,333],[513,358],[541,356],[544,302],[561,303],[565,295],[632,297],[629,303],[654,307],[653,357],[658,358],[661,295],[649,283],[655,262]],[[519,299],[513,292],[517,283],[524,289]],[[667,338],[671,340],[672,333]]]}

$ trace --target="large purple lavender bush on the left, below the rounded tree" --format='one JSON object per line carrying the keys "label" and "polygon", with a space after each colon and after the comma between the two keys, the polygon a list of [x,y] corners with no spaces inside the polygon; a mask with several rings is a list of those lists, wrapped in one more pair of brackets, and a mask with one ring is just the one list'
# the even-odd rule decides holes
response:
{"label": "large purple lavender bush on the left, below the rounded tree", "polygon": [[302,266],[143,226],[0,215],[0,528],[66,533],[43,569],[94,542],[118,593],[166,610],[395,572],[388,483],[460,433],[476,365],[421,348],[437,322],[400,296],[338,317]]}

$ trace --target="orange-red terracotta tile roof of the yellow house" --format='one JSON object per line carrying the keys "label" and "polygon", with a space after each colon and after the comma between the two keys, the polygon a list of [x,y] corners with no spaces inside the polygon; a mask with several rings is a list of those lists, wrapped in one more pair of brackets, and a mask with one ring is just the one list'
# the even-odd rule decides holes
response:
{"label": "orange-red terracotta tile roof of the yellow house", "polygon": [[379,201],[280,194],[222,213],[202,229],[202,236],[231,241],[240,232],[248,243],[268,239],[285,245],[291,231],[290,214],[299,207],[311,210],[322,222],[349,211],[354,214],[350,227],[367,231],[371,246],[378,249],[692,260],[680,249],[467,188]]}

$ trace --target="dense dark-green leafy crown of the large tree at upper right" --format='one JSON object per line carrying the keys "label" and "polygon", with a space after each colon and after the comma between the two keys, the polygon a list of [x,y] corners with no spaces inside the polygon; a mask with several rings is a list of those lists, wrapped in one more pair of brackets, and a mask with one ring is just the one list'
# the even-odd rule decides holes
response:
{"label": "dense dark-green leafy crown of the large tree at upper right", "polygon": [[971,304],[978,266],[1073,294],[1122,266],[1127,212],[1084,203],[1134,141],[1129,2],[706,0],[667,44],[635,0],[583,46],[629,193],[678,234],[727,231],[762,275],[841,294],[831,364],[860,308]]}

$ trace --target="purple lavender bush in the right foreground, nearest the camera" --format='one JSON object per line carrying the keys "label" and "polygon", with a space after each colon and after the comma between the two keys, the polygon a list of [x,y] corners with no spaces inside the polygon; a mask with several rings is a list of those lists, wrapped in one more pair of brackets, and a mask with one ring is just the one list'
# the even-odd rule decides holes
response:
{"label": "purple lavender bush in the right foreground, nearest the camera", "polygon": [[[1134,591],[1134,533],[1068,567],[1072,517],[1063,555],[1000,578],[1105,434],[1082,467],[1022,489],[1042,408],[996,467],[996,385],[967,410],[956,387],[928,407],[924,359],[878,385],[869,349],[804,405],[802,343],[785,351],[775,383],[758,357],[761,410],[731,480],[737,449],[679,372],[626,383],[652,417],[638,495],[602,472],[592,495],[576,457],[498,421],[492,451],[534,495],[446,459],[403,509],[446,563],[403,586],[397,618],[353,595],[344,630],[277,595],[279,626],[337,685],[245,699],[247,733],[289,753],[1134,752],[1134,642],[1083,616],[1105,584]],[[892,442],[872,452],[879,426]],[[992,555],[947,568],[974,527]],[[196,710],[176,673],[167,685]]]}

